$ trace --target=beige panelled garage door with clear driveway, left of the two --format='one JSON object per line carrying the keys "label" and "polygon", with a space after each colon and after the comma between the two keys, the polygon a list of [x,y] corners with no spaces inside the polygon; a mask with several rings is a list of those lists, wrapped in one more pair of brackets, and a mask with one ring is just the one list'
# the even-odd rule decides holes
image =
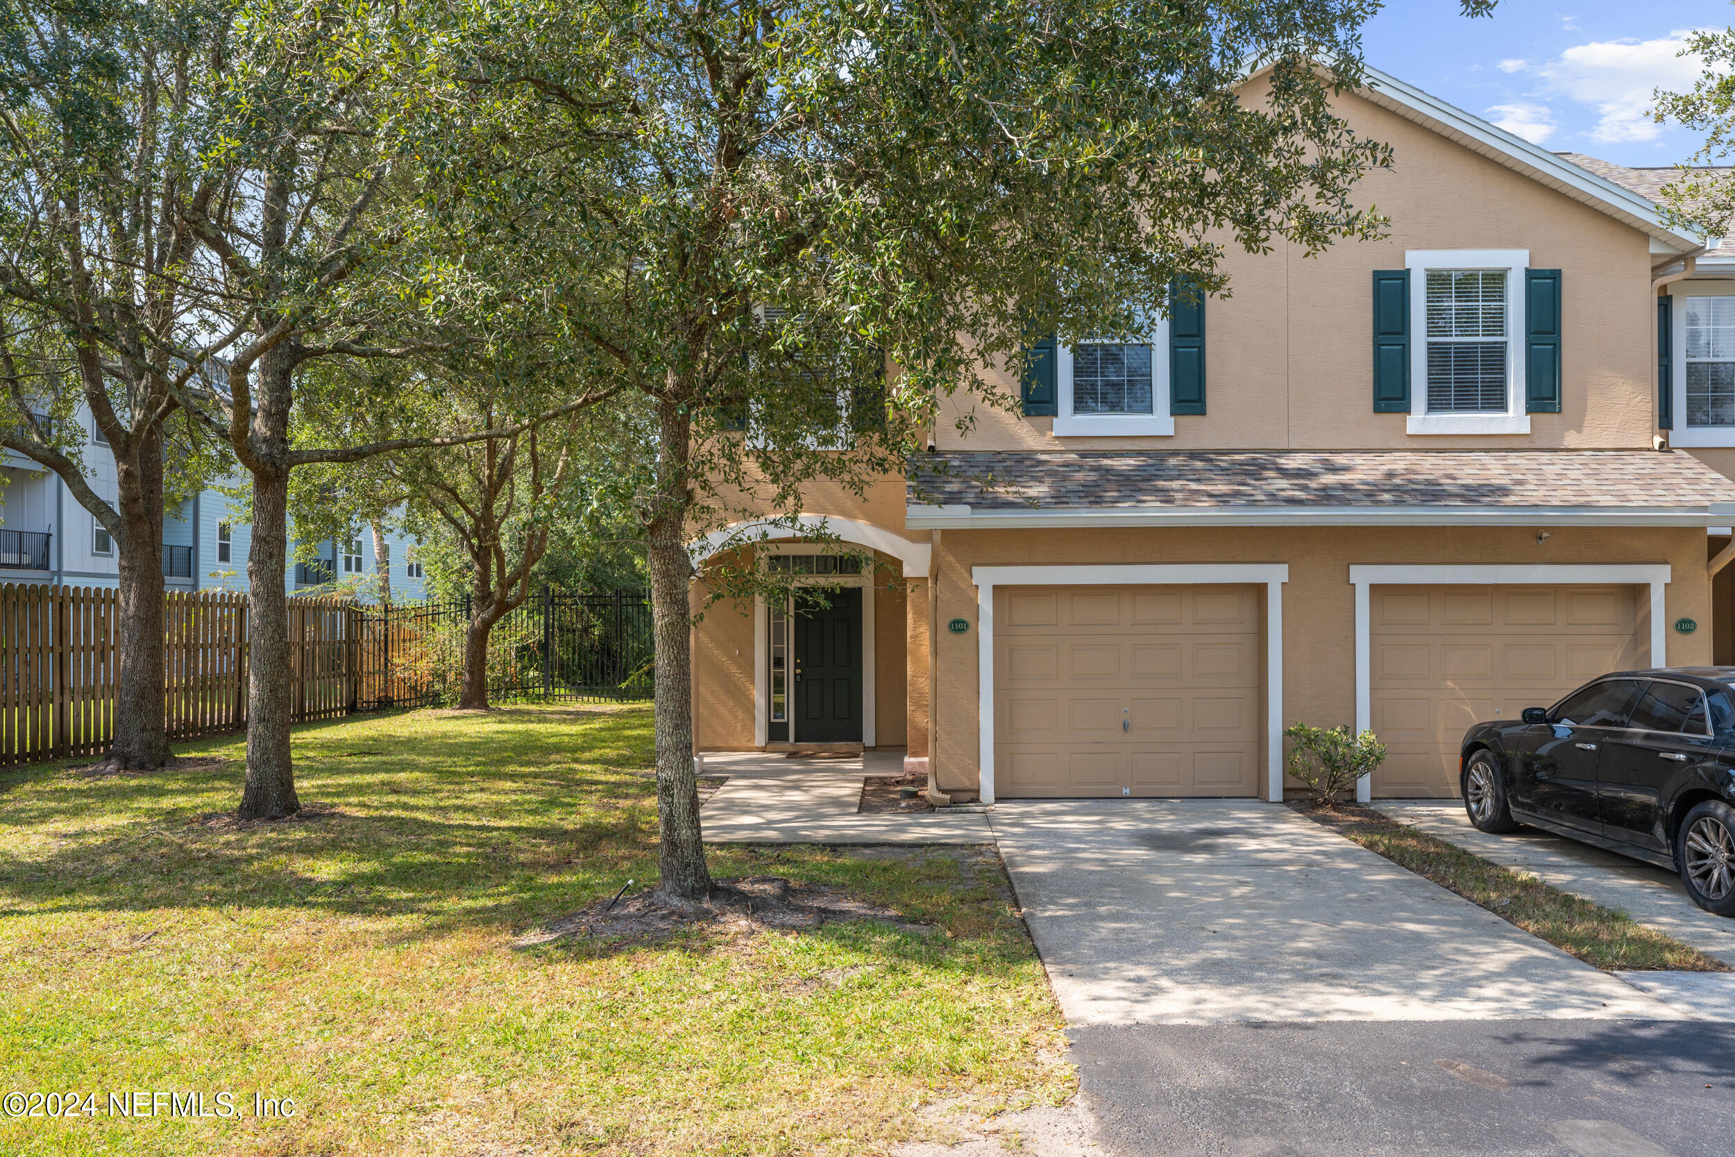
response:
{"label": "beige panelled garage door with clear driveway, left of the two", "polygon": [[1254,794],[1261,593],[996,588],[996,793]]}

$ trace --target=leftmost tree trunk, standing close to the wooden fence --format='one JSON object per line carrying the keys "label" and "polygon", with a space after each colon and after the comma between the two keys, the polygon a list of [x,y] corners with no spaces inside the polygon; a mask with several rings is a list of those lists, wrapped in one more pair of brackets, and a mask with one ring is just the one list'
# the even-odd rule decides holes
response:
{"label": "leftmost tree trunk, standing close to the wooden fence", "polygon": [[154,430],[139,439],[135,460],[116,456],[115,538],[120,567],[115,677],[115,741],[106,763],[149,770],[174,760],[163,711],[163,451]]}

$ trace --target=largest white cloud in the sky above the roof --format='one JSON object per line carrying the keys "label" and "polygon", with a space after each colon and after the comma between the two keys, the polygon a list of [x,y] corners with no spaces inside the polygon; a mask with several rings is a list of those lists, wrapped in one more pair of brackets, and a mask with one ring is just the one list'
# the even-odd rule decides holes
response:
{"label": "largest white cloud in the sky above the roof", "polygon": [[1704,69],[1699,57],[1678,56],[1688,35],[1676,29],[1657,40],[1581,43],[1537,73],[1553,92],[1596,109],[1593,141],[1655,141],[1662,125],[1650,120],[1652,92],[1686,88]]}

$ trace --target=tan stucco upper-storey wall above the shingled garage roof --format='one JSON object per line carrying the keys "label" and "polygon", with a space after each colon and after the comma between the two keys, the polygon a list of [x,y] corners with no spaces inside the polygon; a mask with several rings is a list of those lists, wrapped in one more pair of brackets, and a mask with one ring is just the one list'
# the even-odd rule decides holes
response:
{"label": "tan stucco upper-storey wall above the shingled garage roof", "polygon": [[[1256,94],[1249,94],[1256,99]],[[1648,239],[1360,97],[1339,109],[1395,149],[1369,173],[1357,205],[1391,219],[1379,241],[1339,243],[1319,257],[1293,245],[1227,250],[1232,297],[1206,304],[1208,413],[1176,416],[1173,437],[1055,439],[1051,418],[1017,418],[954,395],[942,449],[1449,449],[1645,448],[1655,428],[1655,298]],[[1405,415],[1372,413],[1372,271],[1402,269],[1405,250],[1529,250],[1560,269],[1563,413],[1530,415],[1529,435],[1411,435]],[[1017,382],[999,375],[1001,389]],[[1412,389],[1419,389],[1412,387]],[[966,437],[954,423],[975,411]]]}

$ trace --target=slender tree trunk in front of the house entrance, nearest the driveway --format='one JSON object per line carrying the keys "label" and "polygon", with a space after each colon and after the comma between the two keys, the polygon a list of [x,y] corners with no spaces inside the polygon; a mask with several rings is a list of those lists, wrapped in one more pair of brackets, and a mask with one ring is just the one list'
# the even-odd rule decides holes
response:
{"label": "slender tree trunk in front of the house entrance, nearest the driveway", "polygon": [[687,583],[687,454],[691,423],[673,402],[658,404],[661,453],[656,508],[645,533],[651,623],[656,640],[656,803],[659,892],[677,902],[711,895],[692,772],[692,612]]}

